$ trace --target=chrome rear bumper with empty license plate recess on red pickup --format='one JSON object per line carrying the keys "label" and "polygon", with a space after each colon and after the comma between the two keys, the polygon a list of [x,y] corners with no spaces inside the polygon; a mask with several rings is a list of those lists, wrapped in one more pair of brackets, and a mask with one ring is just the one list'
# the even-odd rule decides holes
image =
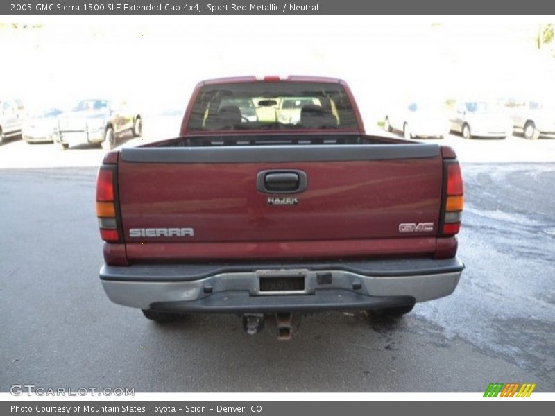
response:
{"label": "chrome rear bumper with empty license plate recess on red pickup", "polygon": [[[450,261],[372,261],[357,270],[360,263],[214,267],[197,275],[182,274],[187,265],[179,266],[103,266],[101,280],[110,300],[140,309],[190,312],[305,311],[326,309],[371,309],[423,302],[450,295],[459,283],[463,264]],[[436,264],[436,270],[431,265]],[[410,265],[413,264],[411,268]],[[393,266],[399,266],[395,272]],[[271,266],[271,267],[268,267]],[[331,267],[336,266],[336,267]],[[339,268],[341,267],[341,268]],[[370,269],[370,270],[369,270]],[[203,276],[205,274],[205,276]],[[198,277],[198,278],[195,278]],[[302,285],[289,290],[265,291],[260,281],[293,278]]]}

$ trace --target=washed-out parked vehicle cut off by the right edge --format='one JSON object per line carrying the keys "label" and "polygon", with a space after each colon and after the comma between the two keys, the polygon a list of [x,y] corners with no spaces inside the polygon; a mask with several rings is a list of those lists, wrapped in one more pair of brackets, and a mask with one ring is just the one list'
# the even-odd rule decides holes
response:
{"label": "washed-out parked vehicle cut off by the right edge", "polygon": [[522,132],[527,139],[555,135],[555,101],[509,100],[505,106],[509,108],[515,132]]}

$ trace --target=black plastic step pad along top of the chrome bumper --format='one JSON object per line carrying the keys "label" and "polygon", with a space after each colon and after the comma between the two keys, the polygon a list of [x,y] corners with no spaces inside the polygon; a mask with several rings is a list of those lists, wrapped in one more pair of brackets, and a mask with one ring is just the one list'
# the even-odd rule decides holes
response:
{"label": "black plastic step pad along top of the chrome bumper", "polygon": [[273,263],[185,263],[102,266],[100,278],[112,281],[194,281],[231,272],[306,268],[315,271],[345,270],[373,277],[419,276],[460,272],[464,264],[452,259],[384,259]]}

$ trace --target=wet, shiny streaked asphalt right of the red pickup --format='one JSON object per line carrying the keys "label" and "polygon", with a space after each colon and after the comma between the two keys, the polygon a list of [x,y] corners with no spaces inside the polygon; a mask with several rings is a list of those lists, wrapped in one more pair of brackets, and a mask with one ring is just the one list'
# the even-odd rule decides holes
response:
{"label": "wet, shiny streaked asphalt right of the red pickup", "polygon": [[466,270],[454,295],[418,315],[553,382],[555,164],[473,164],[463,174]]}

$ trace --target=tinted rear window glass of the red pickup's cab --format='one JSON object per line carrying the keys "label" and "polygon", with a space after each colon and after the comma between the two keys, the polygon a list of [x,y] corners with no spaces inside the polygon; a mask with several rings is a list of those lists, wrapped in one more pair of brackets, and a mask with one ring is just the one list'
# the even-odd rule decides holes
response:
{"label": "tinted rear window glass of the red pickup's cab", "polygon": [[196,98],[189,131],[356,130],[343,86],[332,83],[206,85]]}

